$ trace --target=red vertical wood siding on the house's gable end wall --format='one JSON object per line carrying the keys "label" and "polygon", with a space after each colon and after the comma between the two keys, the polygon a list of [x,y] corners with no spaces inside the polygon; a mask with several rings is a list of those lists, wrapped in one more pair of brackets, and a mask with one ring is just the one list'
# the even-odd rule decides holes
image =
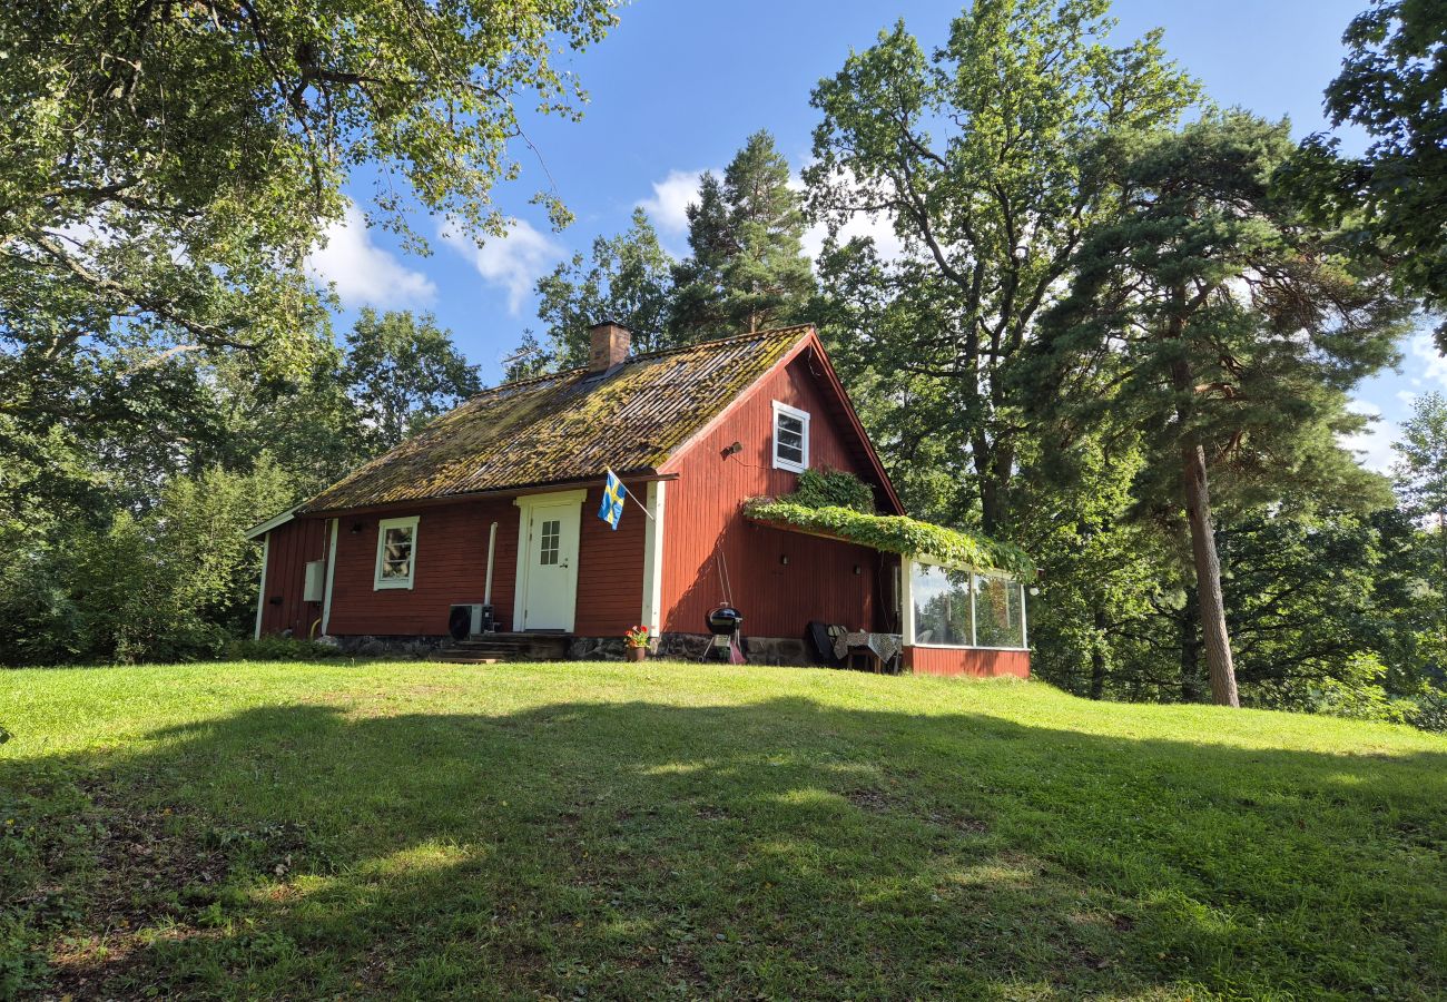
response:
{"label": "red vertical wood siding on the house's gable end wall", "polygon": [[[742,517],[747,498],[787,494],[799,482],[797,473],[773,468],[776,400],[809,413],[810,466],[849,471],[873,482],[873,471],[852,447],[852,433],[831,410],[818,366],[806,353],[774,371],[664,466],[679,475],[667,488],[664,630],[705,631],[705,615],[725,598],[721,562],[728,566],[745,634],[802,637],[810,620],[851,628],[894,627],[888,591],[880,588],[891,586],[887,568],[893,559]],[[734,442],[742,452],[724,456]]]}

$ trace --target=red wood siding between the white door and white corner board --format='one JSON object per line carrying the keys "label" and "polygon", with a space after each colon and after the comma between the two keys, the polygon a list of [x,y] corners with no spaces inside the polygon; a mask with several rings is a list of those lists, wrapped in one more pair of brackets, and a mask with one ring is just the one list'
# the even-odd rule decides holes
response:
{"label": "red wood siding between the white door and white corner board", "polygon": [[[647,501],[648,485],[625,484]],[[577,539],[577,615],[573,633],[580,637],[621,637],[642,615],[642,540],[648,515],[624,501],[624,517],[614,530],[598,517],[603,488],[587,489]],[[667,543],[664,543],[667,552]]]}

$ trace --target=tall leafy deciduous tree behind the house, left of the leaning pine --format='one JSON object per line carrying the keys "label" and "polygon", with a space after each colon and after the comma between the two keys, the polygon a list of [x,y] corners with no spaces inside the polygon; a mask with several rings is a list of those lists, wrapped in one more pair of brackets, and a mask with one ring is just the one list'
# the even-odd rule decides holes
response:
{"label": "tall leafy deciduous tree behind the house, left of the leaning pine", "polygon": [[[1111,136],[1175,123],[1197,87],[1159,32],[1117,46],[1106,0],[980,0],[933,56],[903,22],[849,55],[812,103],[810,211],[833,232],[883,214],[820,274],[851,385],[907,502],[1006,531],[1022,439],[1010,372],[1074,268],[1082,233],[1120,210]],[[1001,96],[1009,96],[1003,100]]]}

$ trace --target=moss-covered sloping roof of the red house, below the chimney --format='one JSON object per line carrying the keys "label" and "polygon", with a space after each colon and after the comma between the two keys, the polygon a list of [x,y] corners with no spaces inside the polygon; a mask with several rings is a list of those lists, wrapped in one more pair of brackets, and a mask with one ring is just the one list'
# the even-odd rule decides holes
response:
{"label": "moss-covered sloping roof of the red house, below the chimney", "polygon": [[297,514],[654,471],[789,355],[783,327],[486,390],[355,469]]}

